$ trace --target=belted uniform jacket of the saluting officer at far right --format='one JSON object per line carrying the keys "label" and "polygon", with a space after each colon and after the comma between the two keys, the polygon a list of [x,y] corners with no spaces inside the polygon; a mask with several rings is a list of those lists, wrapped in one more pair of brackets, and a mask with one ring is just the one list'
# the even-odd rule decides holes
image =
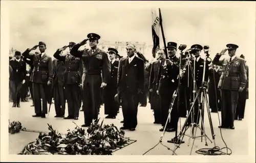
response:
{"label": "belted uniform jacket of the saluting officer at far right", "polygon": [[245,60],[235,57],[231,62],[229,58],[220,60],[221,55],[216,55],[213,64],[222,66],[222,74],[218,88],[223,90],[238,91],[239,87],[245,88],[247,82]]}

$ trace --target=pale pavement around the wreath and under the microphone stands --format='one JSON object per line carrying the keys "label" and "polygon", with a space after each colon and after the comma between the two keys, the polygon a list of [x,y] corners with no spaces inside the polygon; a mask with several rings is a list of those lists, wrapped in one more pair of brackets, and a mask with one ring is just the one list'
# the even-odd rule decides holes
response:
{"label": "pale pavement around the wreath and under the microphone stands", "polygon": [[[19,121],[22,123],[24,127],[30,130],[39,130],[39,131],[48,131],[48,125],[53,126],[60,133],[66,133],[67,129],[75,128],[75,124],[72,123],[74,121],[77,125],[83,124],[83,112],[79,114],[79,120],[64,120],[63,118],[54,118],[55,110],[54,104],[51,106],[51,112],[49,117],[43,118],[33,118],[34,107],[31,107],[31,102],[21,102],[20,108],[14,107],[12,108],[12,103],[9,103],[9,119],[10,121]],[[247,110],[247,109],[246,109]],[[247,112],[246,112],[247,113]],[[67,110],[66,110],[67,116]],[[219,116],[221,116],[219,112]],[[103,106],[100,108],[101,119],[105,117]],[[214,126],[214,132],[216,134],[215,141],[216,146],[220,148],[225,147],[221,135],[219,126],[219,120],[217,113],[211,113],[212,124]],[[210,140],[212,140],[208,116],[205,114],[205,130],[206,134]],[[116,119],[104,119],[105,124],[114,123],[117,127],[121,127],[122,123],[122,111],[120,108],[120,113],[118,114]],[[183,125],[185,118],[181,118],[181,124]],[[125,130],[125,136],[130,137],[133,140],[137,140],[137,142],[126,146],[116,152],[113,155],[142,155],[148,149],[153,148],[158,142],[162,135],[162,132],[159,132],[161,126],[159,124],[153,124],[154,116],[153,112],[150,109],[150,104],[146,107],[139,107],[138,111],[138,126],[136,131]],[[247,155],[248,154],[248,125],[245,119],[243,121],[235,121],[236,129],[222,129],[223,139],[226,142],[227,146],[232,150],[232,155]],[[179,131],[180,131],[180,123],[179,123]],[[190,133],[190,128],[186,131],[186,134]],[[39,133],[36,132],[26,132],[21,131],[16,134],[9,134],[9,154],[17,154],[20,152],[23,147],[34,141],[38,137]],[[197,129],[197,135],[200,135],[200,130]],[[163,137],[163,144],[168,146],[170,149],[174,149],[174,144],[167,143],[167,140],[170,140],[174,137],[175,132],[165,132]],[[191,140],[190,145],[188,146],[188,137],[185,136],[183,141],[184,144],[180,146],[179,149],[176,150],[178,155],[189,155],[193,140]],[[195,151],[200,148],[212,148],[214,147],[214,143],[210,143],[208,141],[208,146],[205,146],[205,141],[201,142],[201,138],[197,138],[194,143],[194,147],[191,155],[198,155]],[[226,149],[224,150],[226,152]],[[172,155],[172,151],[168,150],[166,147],[159,144],[146,155]]]}

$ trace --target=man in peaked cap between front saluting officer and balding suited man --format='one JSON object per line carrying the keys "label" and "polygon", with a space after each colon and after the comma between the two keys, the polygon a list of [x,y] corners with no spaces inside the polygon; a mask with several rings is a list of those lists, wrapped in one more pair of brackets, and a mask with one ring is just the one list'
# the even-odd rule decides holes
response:
{"label": "man in peaked cap between front saluting officer and balding suited man", "polygon": [[118,51],[115,48],[109,48],[109,57],[111,63],[111,76],[108,85],[103,89],[104,94],[104,112],[105,118],[115,119],[117,111],[119,110],[119,104],[115,101],[114,97],[117,94],[117,72],[119,62],[115,60],[115,56]]}

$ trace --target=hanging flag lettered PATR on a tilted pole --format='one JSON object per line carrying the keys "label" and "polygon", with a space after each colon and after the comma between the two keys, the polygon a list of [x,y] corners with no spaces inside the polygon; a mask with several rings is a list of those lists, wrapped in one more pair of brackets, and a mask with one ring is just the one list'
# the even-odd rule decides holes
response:
{"label": "hanging flag lettered PATR on a tilted pole", "polygon": [[159,28],[160,28],[160,18],[159,12],[152,9],[152,38],[153,38],[153,57],[156,57],[156,51],[159,48]]}

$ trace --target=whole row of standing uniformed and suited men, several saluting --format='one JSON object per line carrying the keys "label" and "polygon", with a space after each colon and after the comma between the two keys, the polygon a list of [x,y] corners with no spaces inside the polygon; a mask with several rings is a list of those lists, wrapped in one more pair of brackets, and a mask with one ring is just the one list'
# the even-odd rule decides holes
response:
{"label": "whole row of standing uniformed and suited men, several saluting", "polygon": [[[108,48],[108,52],[99,49],[99,39],[99,35],[90,33],[87,39],[77,44],[70,42],[57,49],[53,61],[45,52],[46,43],[41,41],[23,53],[16,51],[9,66],[13,107],[20,107],[20,88],[26,76],[29,76],[32,86],[30,95],[35,109],[33,117],[45,118],[48,113],[47,103],[51,104],[54,98],[56,118],[77,120],[82,108],[82,127],[88,127],[93,120],[98,119],[100,106],[104,103],[104,112],[108,115],[105,118],[115,119],[121,106],[121,129],[134,131],[138,123],[138,105],[141,103],[141,106],[145,106],[147,96],[154,111],[154,123],[162,125],[160,131],[164,130],[165,123],[167,132],[176,131],[179,117],[188,118],[186,125],[192,121],[198,124],[198,112],[202,106],[198,103],[200,97],[195,100],[193,96],[195,90],[201,87],[208,89],[211,112],[222,113],[220,128],[234,129],[234,120],[244,118],[245,102],[248,99],[248,66],[243,55],[236,56],[238,45],[227,44],[227,48],[217,53],[211,62],[209,58],[204,60],[200,57],[203,47],[199,44],[191,46],[195,50],[192,58],[183,55],[177,58],[177,43],[168,42],[167,58],[164,50],[160,49],[157,60],[147,64],[148,61],[136,50],[135,45],[127,44],[127,57],[121,58],[115,48]],[[88,40],[90,49],[80,50]],[[40,52],[31,53],[37,47]],[[67,48],[69,52],[63,53]],[[230,60],[220,60],[226,50]],[[26,69],[26,64],[30,70]],[[174,100],[173,95],[177,93],[179,98]],[[195,110],[192,114],[194,118],[191,118],[187,112],[193,102]],[[169,121],[166,121],[170,106],[173,109]]]}

